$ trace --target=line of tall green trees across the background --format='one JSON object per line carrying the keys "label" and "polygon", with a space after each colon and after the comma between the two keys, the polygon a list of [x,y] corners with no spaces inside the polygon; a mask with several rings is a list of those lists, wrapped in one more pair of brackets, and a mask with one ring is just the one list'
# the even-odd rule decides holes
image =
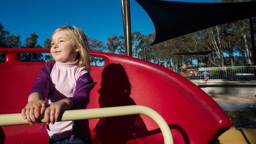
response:
{"label": "line of tall green trees across the background", "polygon": [[[256,26],[255,17],[252,18],[253,26]],[[255,33],[253,34],[255,35]],[[132,32],[132,57],[140,58],[153,63],[178,65],[200,65],[205,67],[225,67],[236,65],[253,65],[252,39],[249,19],[239,20],[203,29],[195,33],[179,36],[156,45],[150,45],[155,33],[142,35],[139,31]],[[10,35],[9,31],[0,24],[0,47],[30,47],[50,48],[51,40],[45,39],[44,45],[37,44],[38,35],[31,33],[26,38],[24,45],[20,42],[20,35]],[[88,37],[90,51],[111,52],[125,54],[124,36],[109,36],[106,42],[97,38]],[[150,45],[150,46],[149,46]],[[209,52],[208,54],[184,54],[193,52]],[[183,53],[182,55],[179,55]],[[3,60],[0,54],[0,61]],[[50,60],[49,56],[40,53],[24,53],[21,61]],[[92,58],[97,65],[99,58]]]}

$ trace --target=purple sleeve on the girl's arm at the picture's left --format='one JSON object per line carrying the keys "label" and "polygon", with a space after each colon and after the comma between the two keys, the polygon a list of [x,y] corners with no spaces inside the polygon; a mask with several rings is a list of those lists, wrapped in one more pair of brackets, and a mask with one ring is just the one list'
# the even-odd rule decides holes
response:
{"label": "purple sleeve on the girl's arm at the picture's left", "polygon": [[47,64],[45,64],[45,66],[42,67],[40,72],[38,72],[38,76],[36,78],[35,83],[33,84],[32,88],[31,88],[29,95],[31,93],[38,92],[42,95],[43,100],[47,100],[47,97],[48,97],[49,91],[50,91],[49,90],[50,89],[50,81],[51,81],[51,77],[50,77],[49,67]]}

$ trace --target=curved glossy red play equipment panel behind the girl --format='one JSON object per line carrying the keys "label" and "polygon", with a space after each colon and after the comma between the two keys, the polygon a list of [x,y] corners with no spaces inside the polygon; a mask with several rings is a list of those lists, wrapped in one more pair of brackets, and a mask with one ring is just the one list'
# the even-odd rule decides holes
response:
{"label": "curved glossy red play equipment panel behind the girl", "polygon": [[[6,62],[0,64],[0,114],[20,113],[28,92],[44,62],[20,62],[19,52],[49,52],[49,49],[0,49]],[[205,144],[216,140],[231,124],[225,112],[204,91],[164,67],[127,56],[90,52],[105,60],[92,67],[97,82],[88,108],[143,105],[166,120],[174,143]],[[0,127],[0,143],[47,143],[39,125]],[[90,120],[93,143],[164,143],[156,123],[143,115]]]}

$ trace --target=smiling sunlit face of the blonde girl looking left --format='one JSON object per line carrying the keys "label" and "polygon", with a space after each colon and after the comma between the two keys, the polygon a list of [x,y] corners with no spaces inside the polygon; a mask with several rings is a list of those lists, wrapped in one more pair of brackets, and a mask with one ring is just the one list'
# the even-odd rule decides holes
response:
{"label": "smiling sunlit face of the blonde girl looking left", "polygon": [[72,38],[67,31],[57,31],[52,35],[51,54],[55,61],[72,63],[76,61],[78,49],[74,48]]}

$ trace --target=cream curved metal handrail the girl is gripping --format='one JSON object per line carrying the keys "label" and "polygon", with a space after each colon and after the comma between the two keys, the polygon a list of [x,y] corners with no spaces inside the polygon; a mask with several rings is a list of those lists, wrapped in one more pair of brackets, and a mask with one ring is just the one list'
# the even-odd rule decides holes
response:
{"label": "cream curved metal handrail the girl is gripping", "polygon": [[[118,106],[111,108],[94,108],[94,109],[79,109],[69,110],[63,113],[61,121],[67,120],[83,120],[92,118],[104,118],[111,116],[124,116],[124,115],[136,115],[143,114],[152,118],[159,128],[163,132],[164,144],[173,144],[172,133],[170,127],[165,122],[164,118],[156,111],[146,106]],[[42,120],[42,122],[45,122]],[[28,124],[27,120],[24,120],[20,113],[4,114],[0,115],[0,126],[4,125],[22,125]]]}

